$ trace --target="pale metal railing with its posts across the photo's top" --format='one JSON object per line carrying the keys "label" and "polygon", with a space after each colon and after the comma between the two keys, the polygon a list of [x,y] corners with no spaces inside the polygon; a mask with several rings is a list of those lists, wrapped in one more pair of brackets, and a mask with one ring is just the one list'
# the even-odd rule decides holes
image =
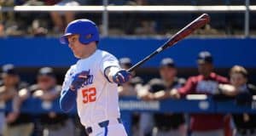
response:
{"label": "pale metal railing with its posts across the photo's top", "polygon": [[113,6],[108,5],[108,0],[102,6],[14,6],[1,7],[1,12],[49,12],[49,11],[76,11],[87,13],[102,13],[102,35],[108,36],[109,13],[244,13],[244,36],[249,36],[249,13],[256,11],[256,5],[250,5],[249,0],[245,5],[213,5],[213,6]]}

